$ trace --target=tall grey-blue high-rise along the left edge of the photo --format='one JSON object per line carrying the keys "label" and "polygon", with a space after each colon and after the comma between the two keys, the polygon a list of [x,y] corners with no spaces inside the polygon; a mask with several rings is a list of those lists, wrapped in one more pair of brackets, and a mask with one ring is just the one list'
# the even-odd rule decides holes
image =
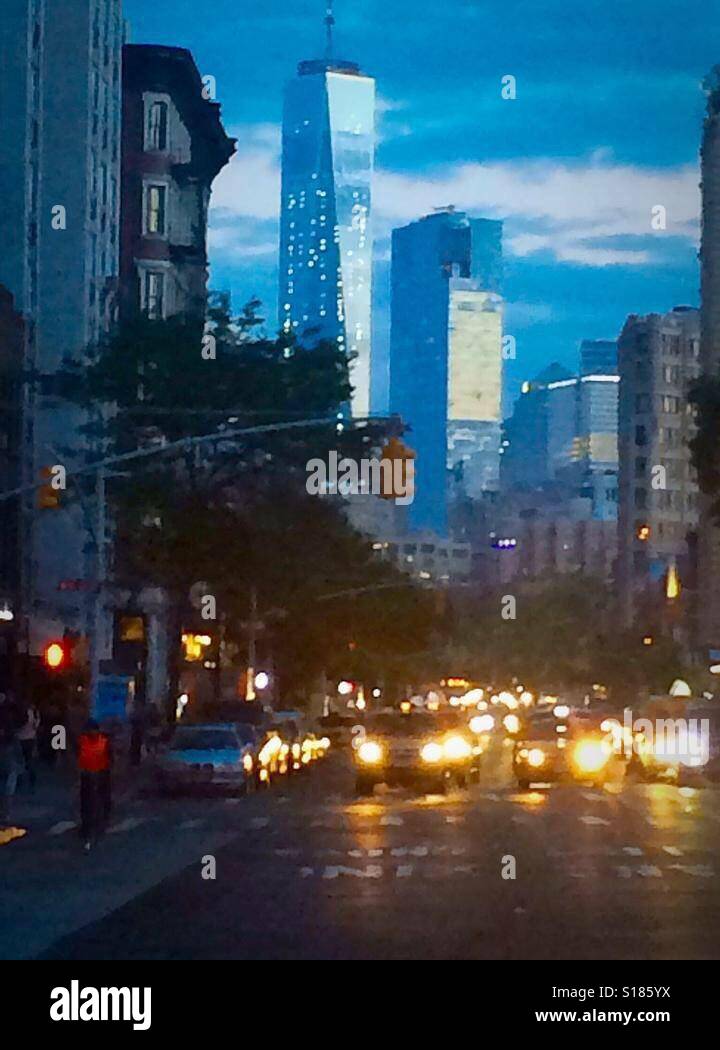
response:
{"label": "tall grey-blue high-rise along the left edge of the photo", "polygon": [[[118,278],[121,0],[5,0],[0,18],[0,284],[25,318],[23,478],[82,460],[83,416],[55,379],[105,331]],[[24,507],[23,592],[33,651],[82,627],[87,580],[80,507]],[[27,604],[33,596],[31,605]]]}

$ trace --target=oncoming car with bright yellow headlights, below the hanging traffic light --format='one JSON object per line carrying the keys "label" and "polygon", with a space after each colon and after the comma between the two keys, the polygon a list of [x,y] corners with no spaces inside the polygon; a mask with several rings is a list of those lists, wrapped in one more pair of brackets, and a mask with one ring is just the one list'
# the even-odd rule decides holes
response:
{"label": "oncoming car with bright yellow headlights, below the hanging traffic light", "polygon": [[358,795],[370,795],[379,783],[444,792],[477,776],[479,749],[457,717],[380,712],[366,718],[353,750]]}

